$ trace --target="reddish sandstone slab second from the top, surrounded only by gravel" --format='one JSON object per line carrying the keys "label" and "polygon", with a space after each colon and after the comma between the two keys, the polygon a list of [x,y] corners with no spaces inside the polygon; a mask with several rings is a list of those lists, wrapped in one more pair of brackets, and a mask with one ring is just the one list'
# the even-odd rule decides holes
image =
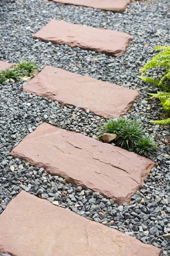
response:
{"label": "reddish sandstone slab second from the top, surrounded only by gravel", "polygon": [[68,44],[73,47],[102,52],[106,55],[120,56],[134,37],[127,33],[110,29],[96,29],[59,20],[50,22],[40,29],[34,39],[53,44]]}

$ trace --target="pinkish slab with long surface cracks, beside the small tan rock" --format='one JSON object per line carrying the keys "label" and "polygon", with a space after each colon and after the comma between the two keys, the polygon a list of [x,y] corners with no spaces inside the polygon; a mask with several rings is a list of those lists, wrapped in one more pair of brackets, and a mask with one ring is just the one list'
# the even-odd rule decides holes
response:
{"label": "pinkish slab with long surface cracks, beside the small tan rock", "polygon": [[11,154],[118,204],[130,201],[155,166],[133,152],[47,123],[27,135]]}

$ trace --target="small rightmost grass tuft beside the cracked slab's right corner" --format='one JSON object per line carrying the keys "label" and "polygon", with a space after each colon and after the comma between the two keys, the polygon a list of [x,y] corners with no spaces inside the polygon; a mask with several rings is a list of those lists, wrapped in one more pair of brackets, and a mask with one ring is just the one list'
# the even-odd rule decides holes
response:
{"label": "small rightmost grass tuft beside the cracked slab's right corner", "polygon": [[136,143],[136,153],[148,157],[148,153],[156,151],[156,143],[152,137],[140,137]]}

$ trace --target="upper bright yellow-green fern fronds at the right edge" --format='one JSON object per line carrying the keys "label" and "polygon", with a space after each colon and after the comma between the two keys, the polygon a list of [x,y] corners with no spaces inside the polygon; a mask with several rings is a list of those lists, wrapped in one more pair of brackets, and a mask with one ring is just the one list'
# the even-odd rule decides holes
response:
{"label": "upper bright yellow-green fern fronds at the right edge", "polygon": [[161,51],[156,56],[154,56],[144,67],[139,70],[139,73],[146,75],[147,71],[151,68],[164,67],[167,71],[161,77],[160,80],[153,79],[146,76],[139,76],[140,79],[146,81],[147,83],[156,84],[159,88],[170,91],[170,46],[157,46],[154,50]]}

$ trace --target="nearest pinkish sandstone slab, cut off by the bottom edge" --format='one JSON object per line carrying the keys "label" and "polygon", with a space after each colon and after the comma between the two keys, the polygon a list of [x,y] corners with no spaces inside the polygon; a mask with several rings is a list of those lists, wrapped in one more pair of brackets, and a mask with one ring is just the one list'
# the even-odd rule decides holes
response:
{"label": "nearest pinkish sandstone slab, cut off by the bottom edge", "polygon": [[161,250],[21,191],[0,215],[0,252],[12,256],[159,256]]}

